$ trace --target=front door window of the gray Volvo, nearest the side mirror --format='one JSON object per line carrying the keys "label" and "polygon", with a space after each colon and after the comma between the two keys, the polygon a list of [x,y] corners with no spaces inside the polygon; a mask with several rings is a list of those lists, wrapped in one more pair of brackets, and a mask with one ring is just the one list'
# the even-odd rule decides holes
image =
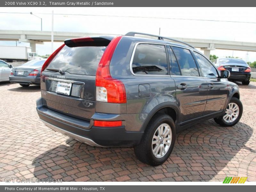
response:
{"label": "front door window of the gray Volvo, nearest the side mirror", "polygon": [[201,71],[205,77],[218,77],[216,69],[203,55],[194,52]]}

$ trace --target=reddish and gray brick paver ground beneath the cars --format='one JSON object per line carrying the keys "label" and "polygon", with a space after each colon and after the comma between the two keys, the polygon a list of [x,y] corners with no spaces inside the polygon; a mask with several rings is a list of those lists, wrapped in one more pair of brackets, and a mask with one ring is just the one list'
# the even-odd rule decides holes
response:
{"label": "reddish and gray brick paver ground beneath the cars", "polygon": [[238,83],[243,116],[233,127],[213,119],[177,134],[170,158],[141,163],[133,148],[97,148],[46,127],[36,113],[39,86],[0,83],[0,180],[256,181],[256,83]]}

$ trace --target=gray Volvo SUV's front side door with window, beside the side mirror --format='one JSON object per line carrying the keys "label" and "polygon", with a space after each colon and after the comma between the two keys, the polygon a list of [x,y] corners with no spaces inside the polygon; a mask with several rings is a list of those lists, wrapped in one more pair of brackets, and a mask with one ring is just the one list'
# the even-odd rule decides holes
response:
{"label": "gray Volvo SUV's front side door with window, beside the side mirror", "polygon": [[226,80],[219,78],[217,69],[202,54],[194,52],[194,55],[196,56],[198,65],[208,86],[208,96],[204,115],[217,113],[224,109],[227,99],[228,89]]}

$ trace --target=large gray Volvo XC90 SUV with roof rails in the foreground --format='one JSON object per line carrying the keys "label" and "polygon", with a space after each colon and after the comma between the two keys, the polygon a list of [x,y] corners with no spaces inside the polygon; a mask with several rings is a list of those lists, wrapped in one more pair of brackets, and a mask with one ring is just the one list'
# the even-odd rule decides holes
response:
{"label": "large gray Volvo XC90 SUV with roof rails in the foreground", "polygon": [[240,120],[229,71],[184,42],[135,34],[154,36],[65,40],[42,67],[37,112],[44,124],[88,145],[132,146],[156,166],[170,156],[176,132],[210,118],[222,126]]}

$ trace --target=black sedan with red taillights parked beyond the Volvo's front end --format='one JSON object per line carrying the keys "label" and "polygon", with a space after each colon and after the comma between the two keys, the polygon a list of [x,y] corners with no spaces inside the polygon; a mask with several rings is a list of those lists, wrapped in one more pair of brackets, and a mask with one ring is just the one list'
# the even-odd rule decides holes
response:
{"label": "black sedan with red taillights parked beyond the Volvo's front end", "polygon": [[230,81],[241,81],[243,85],[249,85],[251,79],[251,68],[242,59],[221,58],[217,59],[215,66],[221,70],[230,71]]}

